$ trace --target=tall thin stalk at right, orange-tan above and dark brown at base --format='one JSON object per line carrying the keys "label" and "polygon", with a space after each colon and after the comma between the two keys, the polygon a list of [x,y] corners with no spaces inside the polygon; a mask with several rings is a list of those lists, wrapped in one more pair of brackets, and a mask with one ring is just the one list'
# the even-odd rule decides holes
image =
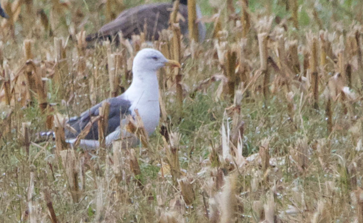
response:
{"label": "tall thin stalk at right, orange-tan above and dark brown at base", "polygon": [[313,87],[314,94],[314,108],[319,109],[319,75],[318,75],[318,41],[315,37],[311,39],[311,53],[310,53],[310,71],[311,71],[311,86]]}

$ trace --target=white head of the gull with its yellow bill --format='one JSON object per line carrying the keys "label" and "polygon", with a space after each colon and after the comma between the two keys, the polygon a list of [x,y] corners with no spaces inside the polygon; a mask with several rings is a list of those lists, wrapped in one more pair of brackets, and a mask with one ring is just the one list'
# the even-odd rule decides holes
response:
{"label": "white head of the gull with its yellow bill", "polygon": [[180,67],[180,64],[173,60],[168,60],[164,55],[157,50],[151,48],[144,48],[140,50],[132,63],[132,73],[135,72],[148,72],[155,73],[159,68],[165,65],[171,67]]}

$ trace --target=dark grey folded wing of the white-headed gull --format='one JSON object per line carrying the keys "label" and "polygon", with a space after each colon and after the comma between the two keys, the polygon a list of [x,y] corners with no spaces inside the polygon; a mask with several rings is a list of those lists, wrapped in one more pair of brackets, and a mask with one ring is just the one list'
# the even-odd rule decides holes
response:
{"label": "dark grey folded wing of the white-headed gull", "polygon": [[[106,135],[113,132],[119,125],[121,121],[121,117],[130,114],[129,108],[131,106],[131,102],[129,100],[122,99],[122,97],[109,98],[104,101],[110,103],[110,112],[109,112],[109,120],[108,120],[108,128],[106,131]],[[68,124],[76,129],[77,133],[69,132],[65,130],[65,138],[75,138],[81,132],[83,128],[89,123],[91,120],[91,116],[99,115],[98,108],[102,106],[101,103],[96,104],[91,107],[89,110],[82,112],[80,116],[75,116],[69,119]],[[98,123],[95,122],[92,125],[90,132],[85,137],[85,140],[98,140]]]}

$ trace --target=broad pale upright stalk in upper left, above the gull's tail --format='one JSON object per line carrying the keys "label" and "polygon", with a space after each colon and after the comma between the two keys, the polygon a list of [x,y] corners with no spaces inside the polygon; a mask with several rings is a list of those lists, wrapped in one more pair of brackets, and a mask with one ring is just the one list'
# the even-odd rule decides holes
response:
{"label": "broad pale upright stalk in upper left, above the gull's tail", "polygon": [[68,73],[68,64],[65,60],[66,51],[63,38],[54,37],[54,53],[56,58],[56,69],[54,71],[54,89],[58,88],[58,96],[65,98],[65,77]]}

